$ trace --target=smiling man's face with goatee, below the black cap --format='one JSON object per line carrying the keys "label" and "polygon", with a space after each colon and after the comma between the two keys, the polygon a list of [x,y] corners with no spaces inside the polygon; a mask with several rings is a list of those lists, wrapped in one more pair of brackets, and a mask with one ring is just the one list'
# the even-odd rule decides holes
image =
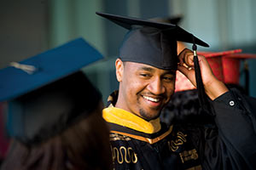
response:
{"label": "smiling man's face with goatee, below the black cap", "polygon": [[117,59],[119,98],[115,106],[148,121],[155,119],[172,97],[175,72]]}

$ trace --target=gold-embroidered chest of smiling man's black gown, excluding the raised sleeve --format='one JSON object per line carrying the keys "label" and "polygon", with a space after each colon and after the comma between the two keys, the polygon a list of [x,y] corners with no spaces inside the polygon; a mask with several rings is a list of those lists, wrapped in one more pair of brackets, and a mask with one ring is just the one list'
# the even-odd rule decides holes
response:
{"label": "gold-embroidered chest of smiling man's black gown, excluding the raised sleeve", "polygon": [[[187,142],[188,134],[180,129],[162,127],[159,133],[147,134],[115,124],[110,126],[112,132],[118,132],[110,134],[114,169],[201,169],[195,147]],[[171,133],[161,138],[168,130]],[[150,143],[137,137],[156,139],[157,142]]]}

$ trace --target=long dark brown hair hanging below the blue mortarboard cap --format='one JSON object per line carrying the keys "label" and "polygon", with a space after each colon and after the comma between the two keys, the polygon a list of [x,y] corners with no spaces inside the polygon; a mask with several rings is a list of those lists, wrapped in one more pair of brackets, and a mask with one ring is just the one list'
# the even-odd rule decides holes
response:
{"label": "long dark brown hair hanging below the blue mortarboard cap", "polygon": [[108,125],[102,118],[102,101],[95,113],[40,144],[13,139],[2,170],[110,169]]}

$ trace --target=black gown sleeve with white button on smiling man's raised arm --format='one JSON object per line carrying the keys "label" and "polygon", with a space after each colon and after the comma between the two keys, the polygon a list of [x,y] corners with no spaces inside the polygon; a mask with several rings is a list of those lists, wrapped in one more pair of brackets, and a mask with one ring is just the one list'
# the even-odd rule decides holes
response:
{"label": "black gown sleeve with white button on smiling man's raised arm", "polygon": [[256,169],[256,99],[232,89],[210,103],[215,125],[191,132],[202,167]]}

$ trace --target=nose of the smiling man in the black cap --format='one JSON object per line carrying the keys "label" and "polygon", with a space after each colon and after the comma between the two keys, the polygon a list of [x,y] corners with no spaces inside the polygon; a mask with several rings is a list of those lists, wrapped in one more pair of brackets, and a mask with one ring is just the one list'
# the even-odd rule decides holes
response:
{"label": "nose of the smiling man in the black cap", "polygon": [[155,77],[154,80],[152,80],[149,84],[148,84],[148,90],[152,93],[152,94],[164,94],[166,91],[166,88],[163,85],[163,82],[161,82],[160,77]]}

